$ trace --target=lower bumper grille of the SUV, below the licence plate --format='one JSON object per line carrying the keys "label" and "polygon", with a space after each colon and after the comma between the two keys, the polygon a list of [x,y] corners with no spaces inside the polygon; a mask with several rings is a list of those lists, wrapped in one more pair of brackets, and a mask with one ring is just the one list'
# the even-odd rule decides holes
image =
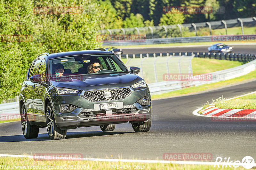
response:
{"label": "lower bumper grille of the SUV, below the licence plate", "polygon": [[[138,111],[137,108],[125,108],[125,109],[113,109],[112,115],[116,116],[126,116],[126,114],[135,114]],[[100,111],[91,111],[91,112],[82,112],[77,115],[78,117],[86,120],[91,119],[102,119],[107,118],[106,116],[106,110],[100,110]],[[110,116],[112,117],[112,116]]]}

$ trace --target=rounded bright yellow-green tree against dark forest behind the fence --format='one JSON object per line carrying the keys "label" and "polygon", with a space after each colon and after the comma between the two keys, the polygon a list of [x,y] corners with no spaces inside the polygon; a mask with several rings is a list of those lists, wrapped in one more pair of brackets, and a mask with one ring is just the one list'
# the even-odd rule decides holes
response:
{"label": "rounded bright yellow-green tree against dark forest behind the fence", "polygon": [[168,12],[163,14],[162,18],[160,18],[159,25],[175,25],[182,24],[184,22],[185,17],[182,13],[172,13]]}

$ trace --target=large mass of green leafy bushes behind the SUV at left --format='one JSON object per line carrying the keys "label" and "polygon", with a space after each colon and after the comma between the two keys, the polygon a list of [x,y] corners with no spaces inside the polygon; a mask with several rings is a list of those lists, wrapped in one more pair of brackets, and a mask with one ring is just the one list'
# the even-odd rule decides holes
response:
{"label": "large mass of green leafy bushes behind the SUV at left", "polygon": [[107,11],[94,0],[0,3],[0,101],[19,94],[31,61],[40,53],[101,46],[97,30]]}

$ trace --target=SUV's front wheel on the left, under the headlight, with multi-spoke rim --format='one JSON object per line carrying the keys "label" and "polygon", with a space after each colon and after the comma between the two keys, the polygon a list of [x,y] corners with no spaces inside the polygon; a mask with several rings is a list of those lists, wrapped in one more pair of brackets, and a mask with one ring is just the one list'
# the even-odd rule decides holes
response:
{"label": "SUV's front wheel on the left, under the headlight, with multi-spoke rim", "polygon": [[47,124],[46,129],[50,139],[58,140],[66,138],[67,130],[60,130],[60,128],[56,125],[50,102],[46,106],[45,119]]}

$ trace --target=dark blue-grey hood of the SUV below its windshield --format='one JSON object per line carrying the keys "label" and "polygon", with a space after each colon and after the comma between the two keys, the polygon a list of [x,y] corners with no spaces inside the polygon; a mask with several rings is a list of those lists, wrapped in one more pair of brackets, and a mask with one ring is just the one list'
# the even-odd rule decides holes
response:
{"label": "dark blue-grey hood of the SUV below its windshield", "polygon": [[69,88],[77,90],[103,89],[114,87],[131,86],[142,80],[138,75],[132,73],[122,74],[97,74],[86,76],[73,76],[68,81],[51,80],[50,84],[54,87]]}

